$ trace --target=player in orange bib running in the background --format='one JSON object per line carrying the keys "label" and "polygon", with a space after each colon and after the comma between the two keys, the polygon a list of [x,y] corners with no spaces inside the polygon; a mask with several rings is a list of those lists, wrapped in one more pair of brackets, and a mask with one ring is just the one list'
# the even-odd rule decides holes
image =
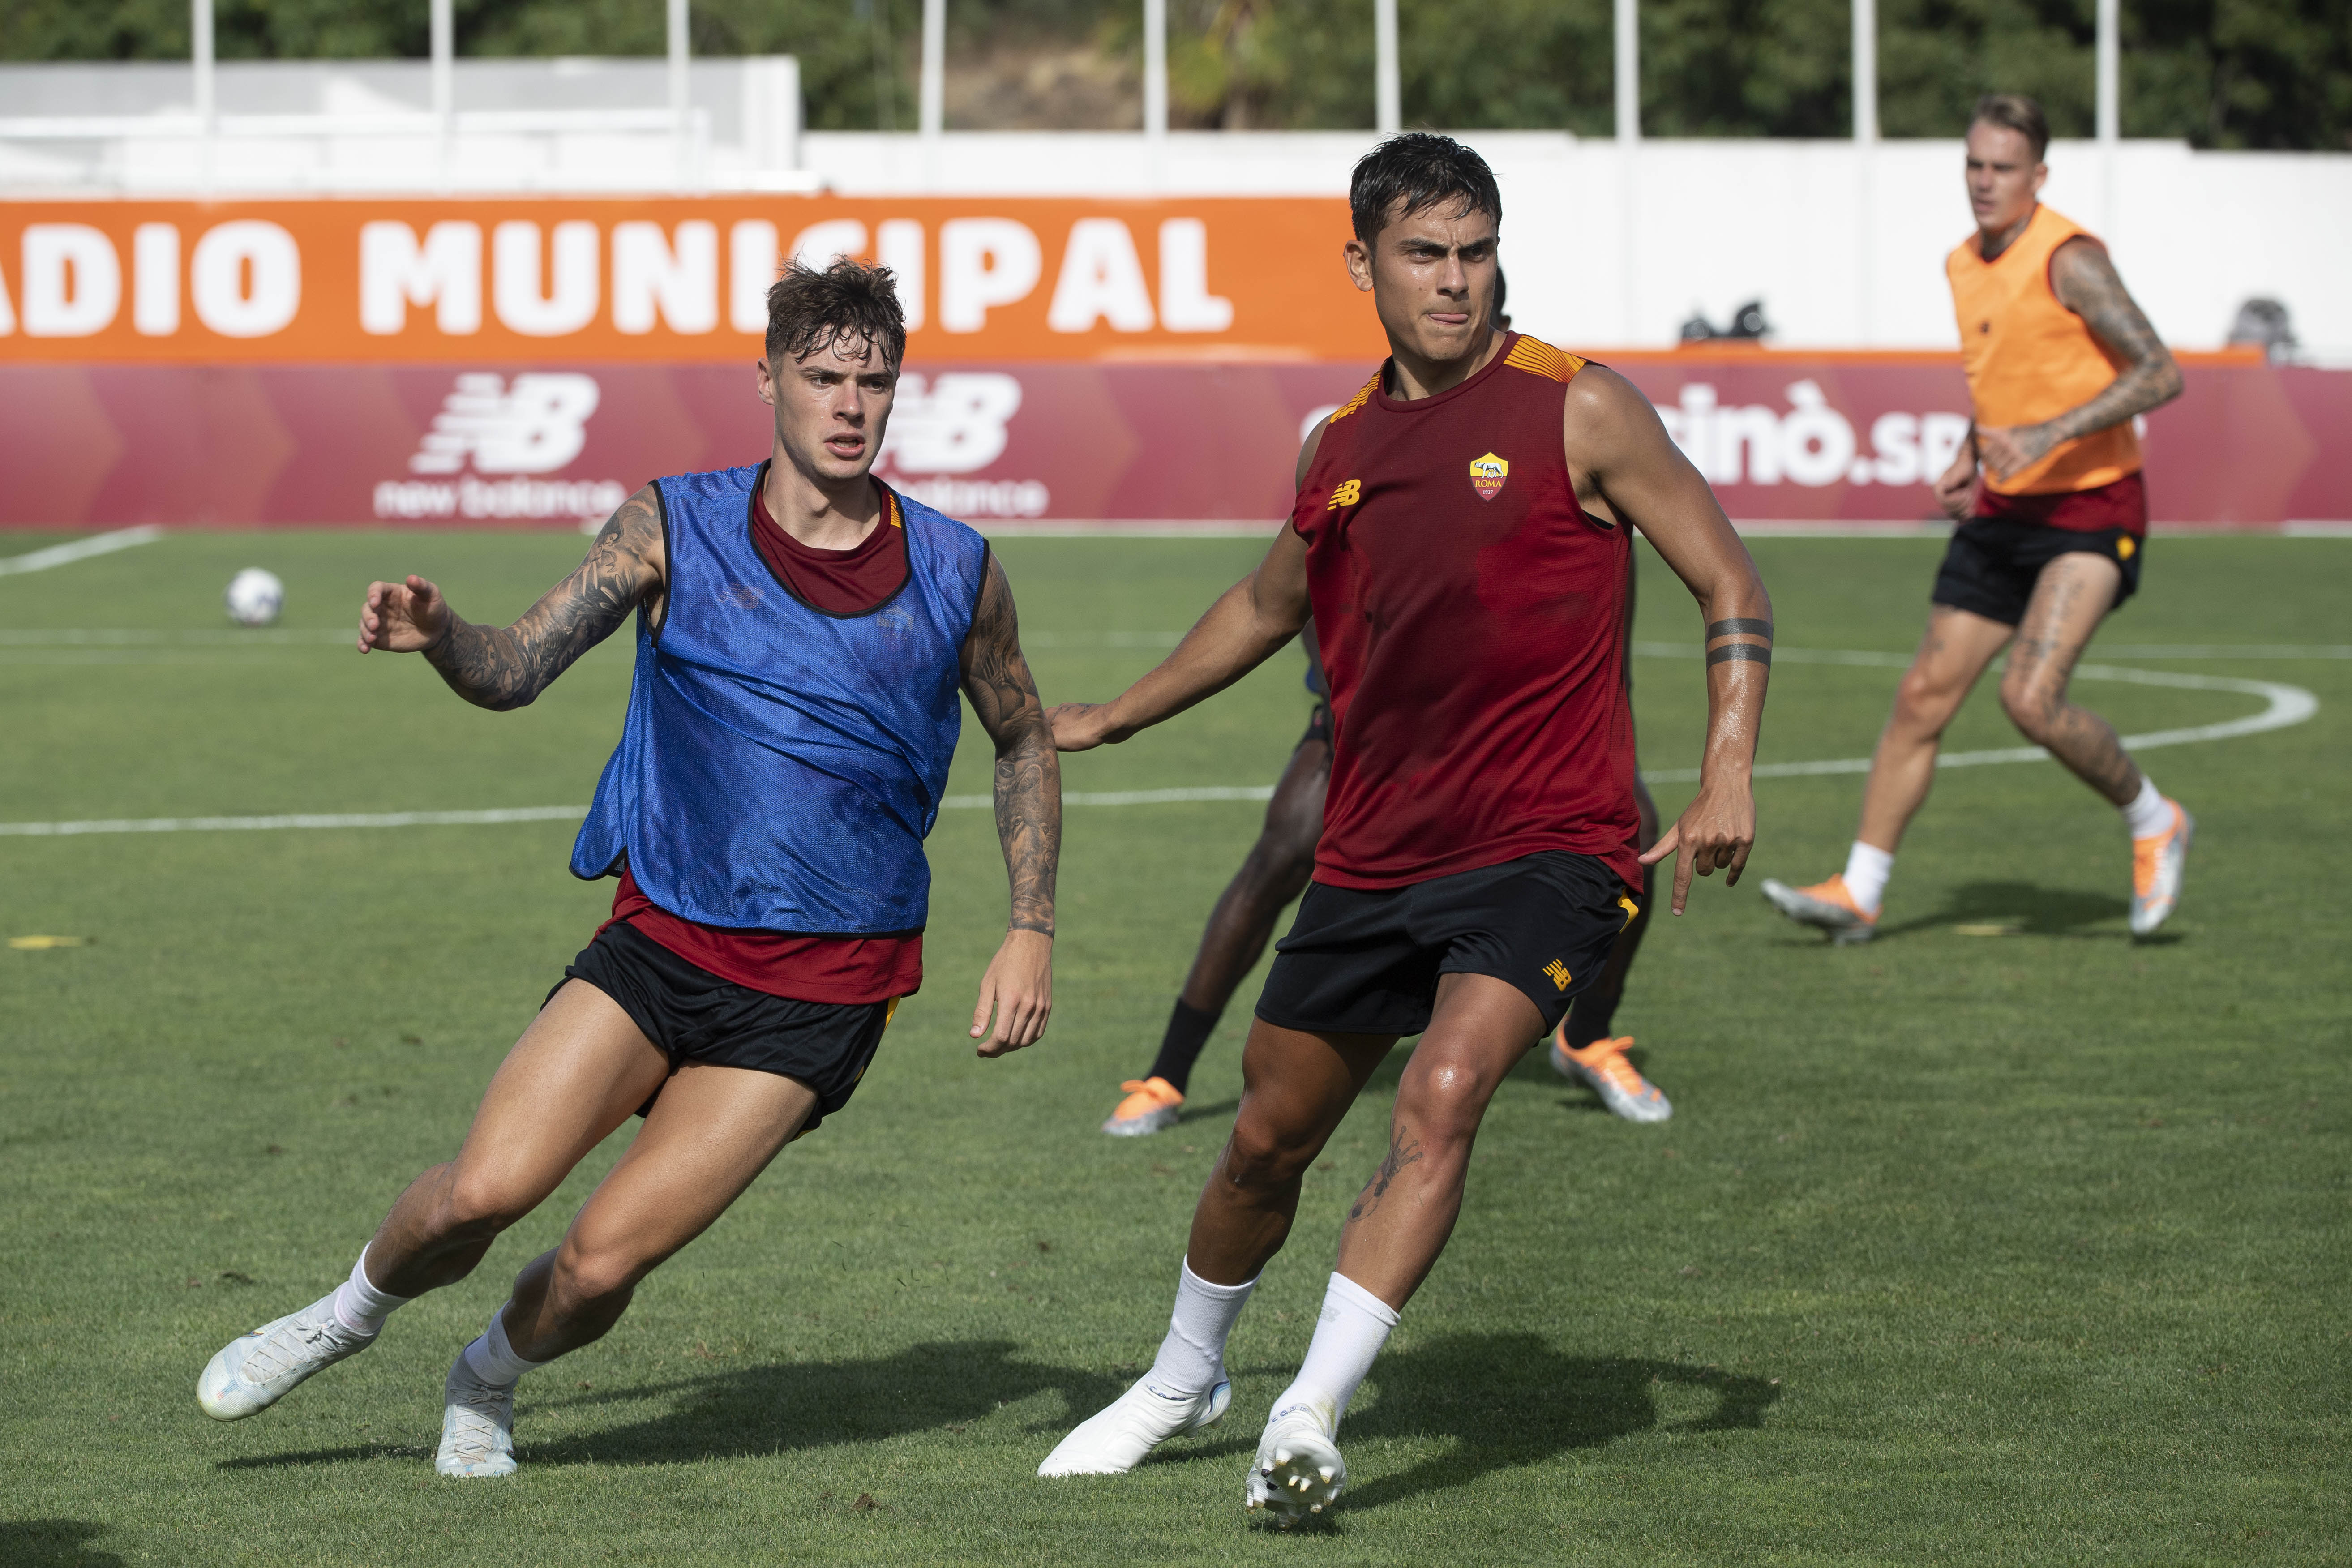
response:
{"label": "player in orange bib running in the background", "polygon": [[2140,588],[2147,487],[2131,421],[2180,395],[2180,367],[2124,292],[2107,247],[2037,200],[2046,146],[2049,122],[2032,99],[1976,101],[1976,235],[1945,259],[1976,423],[1936,480],[1959,527],[1870,759],[1846,870],[1802,889],[1764,882],[1783,914],[1839,943],[1877,931],[1903,830],[1936,780],[1943,731],[2002,649],[2002,710],[2124,813],[2131,933],[2150,936],[2180,903],[2197,823],[2157,792],[2114,726],[2067,693],[2100,621]]}

